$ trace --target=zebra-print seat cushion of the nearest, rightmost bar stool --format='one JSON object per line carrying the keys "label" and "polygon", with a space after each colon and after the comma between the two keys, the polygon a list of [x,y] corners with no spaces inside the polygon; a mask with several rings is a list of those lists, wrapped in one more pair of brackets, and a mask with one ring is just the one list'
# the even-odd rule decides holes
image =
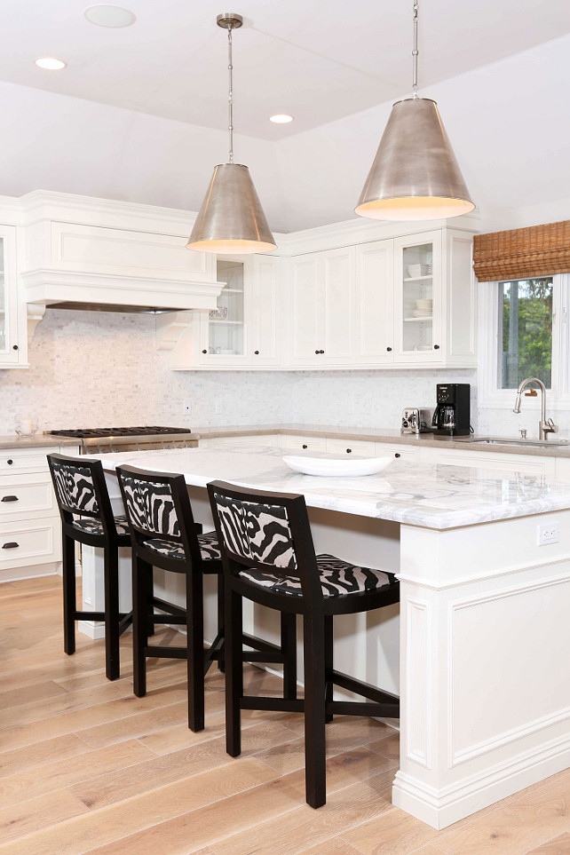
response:
{"label": "zebra-print seat cushion of the nearest, rightmost bar stool", "polygon": [[[394,582],[391,574],[369,567],[355,566],[341,558],[335,558],[334,555],[317,555],[316,558],[323,597],[360,594],[362,591],[376,590]],[[278,575],[266,570],[253,569],[241,570],[239,575],[241,579],[247,579],[248,582],[260,588],[270,588],[293,597],[303,596],[301,582],[296,576]]]}

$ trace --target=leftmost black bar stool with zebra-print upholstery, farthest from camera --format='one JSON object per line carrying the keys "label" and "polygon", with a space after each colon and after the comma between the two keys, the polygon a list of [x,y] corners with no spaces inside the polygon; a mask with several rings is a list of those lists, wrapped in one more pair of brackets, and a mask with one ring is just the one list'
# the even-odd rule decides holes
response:
{"label": "leftmost black bar stool with zebra-print upholstery, farthest from camera", "polygon": [[[63,637],[66,653],[75,653],[75,621],[105,622],[105,668],[109,680],[120,676],[119,637],[131,624],[132,612],[119,612],[120,546],[131,546],[124,517],[114,517],[99,460],[47,455],[61,515],[63,551]],[[97,546],[104,555],[105,611],[77,610],[75,542]]]}

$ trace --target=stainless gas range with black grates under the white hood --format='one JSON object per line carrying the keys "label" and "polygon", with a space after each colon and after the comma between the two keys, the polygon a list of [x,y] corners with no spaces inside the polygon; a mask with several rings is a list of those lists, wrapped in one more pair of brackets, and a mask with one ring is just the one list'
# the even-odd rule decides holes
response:
{"label": "stainless gas range with black grates under the white hood", "polygon": [[151,451],[157,448],[196,447],[198,440],[189,428],[162,425],[136,427],[80,428],[47,431],[53,437],[77,439],[82,454],[104,454],[109,451]]}

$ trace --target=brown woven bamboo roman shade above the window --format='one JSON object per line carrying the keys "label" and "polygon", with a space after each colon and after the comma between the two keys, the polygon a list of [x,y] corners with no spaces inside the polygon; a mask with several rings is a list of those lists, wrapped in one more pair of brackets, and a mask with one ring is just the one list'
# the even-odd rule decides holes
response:
{"label": "brown woven bamboo roman shade above the window", "polygon": [[479,282],[570,273],[570,220],[476,234],[473,269]]}

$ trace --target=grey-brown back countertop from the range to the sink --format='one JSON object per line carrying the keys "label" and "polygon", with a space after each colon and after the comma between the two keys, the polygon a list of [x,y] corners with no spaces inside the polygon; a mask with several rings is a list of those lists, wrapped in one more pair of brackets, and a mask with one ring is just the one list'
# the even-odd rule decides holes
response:
{"label": "grey-brown back countertop from the range to the sink", "polygon": [[[534,455],[539,457],[570,457],[570,442],[566,446],[532,446],[532,445],[517,445],[512,446],[504,443],[495,445],[487,445],[484,442],[478,442],[481,439],[478,434],[473,434],[470,437],[439,437],[433,433],[400,433],[400,430],[393,428],[359,428],[359,427],[343,427],[339,425],[329,424],[240,424],[230,425],[227,427],[195,427],[192,429],[196,438],[215,439],[218,437],[239,437],[244,436],[268,436],[281,433],[289,433],[296,436],[308,437],[331,437],[334,439],[362,439],[369,442],[390,442],[402,443],[409,446],[419,447],[446,447],[459,448],[465,451],[467,447],[469,451],[484,451],[491,454],[506,454],[506,455]],[[518,439],[517,437],[487,437],[486,439]],[[560,438],[564,439],[564,438]],[[532,440],[531,440],[532,441]]]}

